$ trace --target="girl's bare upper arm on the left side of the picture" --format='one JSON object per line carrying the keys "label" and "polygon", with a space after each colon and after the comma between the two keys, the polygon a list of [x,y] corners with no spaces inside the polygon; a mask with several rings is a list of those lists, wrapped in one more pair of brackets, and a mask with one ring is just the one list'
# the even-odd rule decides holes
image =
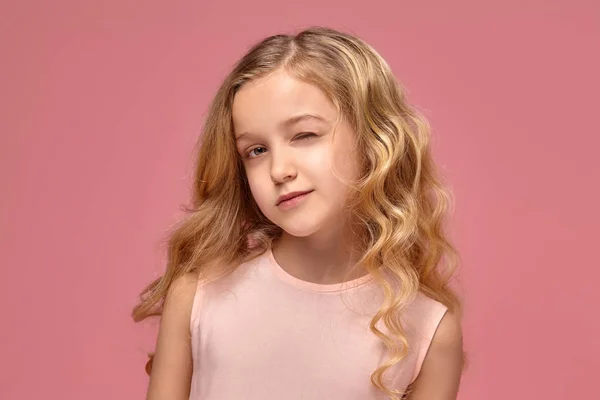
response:
{"label": "girl's bare upper arm on the left side of the picture", "polygon": [[188,399],[192,378],[190,318],[197,277],[173,281],[165,298],[147,400]]}

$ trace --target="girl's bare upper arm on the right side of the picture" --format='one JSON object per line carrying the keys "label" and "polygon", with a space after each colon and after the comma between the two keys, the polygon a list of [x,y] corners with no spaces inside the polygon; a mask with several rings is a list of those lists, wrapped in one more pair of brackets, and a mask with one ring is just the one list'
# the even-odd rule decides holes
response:
{"label": "girl's bare upper arm on the right side of the picture", "polygon": [[463,370],[460,320],[447,312],[433,337],[409,400],[456,400]]}

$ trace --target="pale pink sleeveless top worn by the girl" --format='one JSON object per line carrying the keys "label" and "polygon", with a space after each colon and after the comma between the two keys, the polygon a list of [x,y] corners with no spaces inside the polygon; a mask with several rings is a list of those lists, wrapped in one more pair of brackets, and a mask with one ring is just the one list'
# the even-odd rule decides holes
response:
{"label": "pale pink sleeveless top worn by the girl", "polygon": [[[387,359],[369,329],[381,299],[368,275],[343,284],[305,282],[270,250],[228,277],[200,281],[190,325],[190,399],[386,398],[370,382]],[[416,379],[446,310],[421,293],[409,305],[402,317],[409,353],[386,373],[388,387],[403,390]]]}

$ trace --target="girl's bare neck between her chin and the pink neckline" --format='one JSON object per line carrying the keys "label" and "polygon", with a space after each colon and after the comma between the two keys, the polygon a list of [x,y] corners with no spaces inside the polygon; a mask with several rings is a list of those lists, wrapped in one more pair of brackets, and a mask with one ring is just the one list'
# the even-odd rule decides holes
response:
{"label": "girl's bare neck between her chin and the pink neckline", "polygon": [[317,284],[336,284],[366,274],[357,265],[354,240],[342,229],[295,237],[283,232],[273,242],[273,257],[290,275]]}

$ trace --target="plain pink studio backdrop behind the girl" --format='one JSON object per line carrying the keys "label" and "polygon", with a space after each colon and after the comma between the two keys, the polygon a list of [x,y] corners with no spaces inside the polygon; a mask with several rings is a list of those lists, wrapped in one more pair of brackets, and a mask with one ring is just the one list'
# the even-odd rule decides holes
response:
{"label": "plain pink studio backdrop behind the girl", "polygon": [[208,102],[254,41],[359,34],[429,118],[456,194],[461,399],[589,399],[600,326],[596,1],[4,1],[0,398],[143,398],[135,298]]}

